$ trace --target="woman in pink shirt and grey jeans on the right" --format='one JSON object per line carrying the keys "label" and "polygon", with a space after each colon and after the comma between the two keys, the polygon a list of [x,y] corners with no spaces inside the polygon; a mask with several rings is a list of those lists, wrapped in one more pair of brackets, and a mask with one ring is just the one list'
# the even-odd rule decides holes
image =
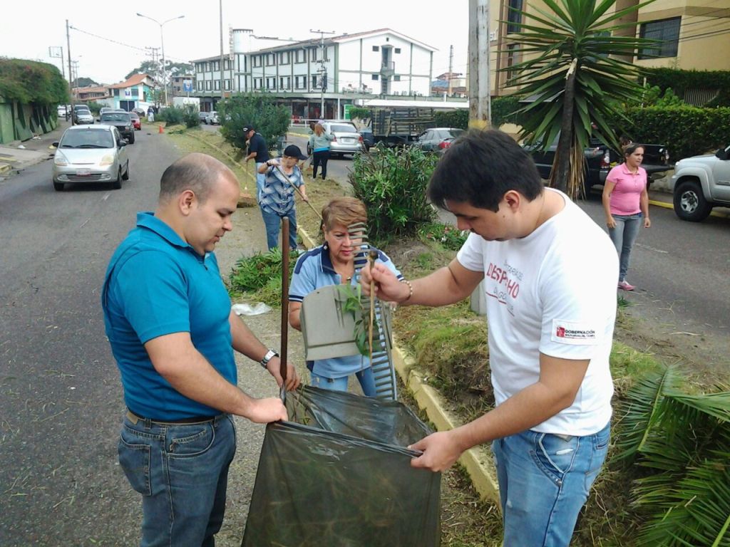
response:
{"label": "woman in pink shirt and grey jeans on the right", "polygon": [[649,228],[649,193],[646,171],[641,167],[644,147],[628,144],[623,147],[624,163],[615,166],[606,176],[603,187],[603,209],[606,213],[608,235],[619,257],[618,288],[634,290],[626,281],[631,247],[634,247],[641,225]]}

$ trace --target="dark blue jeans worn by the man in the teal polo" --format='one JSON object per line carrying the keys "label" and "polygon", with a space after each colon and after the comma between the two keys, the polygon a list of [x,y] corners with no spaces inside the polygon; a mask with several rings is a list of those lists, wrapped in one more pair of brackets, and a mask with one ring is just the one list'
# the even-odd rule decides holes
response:
{"label": "dark blue jeans worn by the man in the teal polo", "polygon": [[125,417],[119,463],[142,494],[142,547],[212,547],[236,453],[231,416],[201,424],[136,424]]}

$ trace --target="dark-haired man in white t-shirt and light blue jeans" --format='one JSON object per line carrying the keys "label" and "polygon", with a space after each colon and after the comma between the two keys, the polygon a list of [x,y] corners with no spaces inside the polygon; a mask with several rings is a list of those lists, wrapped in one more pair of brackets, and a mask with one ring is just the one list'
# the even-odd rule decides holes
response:
{"label": "dark-haired man in white t-shirt and light blue jeans", "polygon": [[429,198],[470,230],[446,268],[399,282],[362,273],[377,296],[445,306],[484,282],[496,408],[418,441],[413,467],[444,470],[492,442],[505,546],[567,546],[606,457],[618,259],[604,231],[545,189],[529,155],[499,131],[470,131],[431,176]]}

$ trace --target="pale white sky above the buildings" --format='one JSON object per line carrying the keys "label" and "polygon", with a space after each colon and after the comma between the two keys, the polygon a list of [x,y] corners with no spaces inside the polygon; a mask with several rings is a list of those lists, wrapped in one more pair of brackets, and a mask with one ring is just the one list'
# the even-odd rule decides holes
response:
{"label": "pale white sky above the buildings", "polygon": [[[449,68],[453,45],[453,71],[466,73],[469,0],[451,0],[447,7],[435,0],[367,0],[310,2],[290,0],[223,2],[223,48],[228,53],[228,27],[251,28],[255,36],[312,39],[311,30],[355,34],[391,28],[436,48],[433,74]],[[150,59],[146,47],[160,47],[160,27],[137,12],[165,23],[165,57],[183,62],[220,53],[220,14],[214,0],[7,0],[0,31],[0,56],[54,63],[49,47],[63,47],[66,60],[66,19],[69,20],[72,60],[78,76],[96,82],[120,82],[142,61]],[[434,9],[424,9],[433,4]],[[92,36],[95,35],[95,36]],[[285,42],[251,41],[254,49]],[[427,67],[426,67],[427,70]]]}

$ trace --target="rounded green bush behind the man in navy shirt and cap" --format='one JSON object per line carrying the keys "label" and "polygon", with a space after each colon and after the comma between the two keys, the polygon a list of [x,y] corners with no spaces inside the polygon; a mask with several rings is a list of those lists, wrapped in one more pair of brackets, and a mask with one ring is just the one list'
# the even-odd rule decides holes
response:
{"label": "rounded green bush behind the man in navy shirt and cap", "polygon": [[291,122],[291,112],[268,93],[237,93],[218,104],[218,116],[223,139],[241,150],[247,147],[245,127],[261,133],[271,150]]}

